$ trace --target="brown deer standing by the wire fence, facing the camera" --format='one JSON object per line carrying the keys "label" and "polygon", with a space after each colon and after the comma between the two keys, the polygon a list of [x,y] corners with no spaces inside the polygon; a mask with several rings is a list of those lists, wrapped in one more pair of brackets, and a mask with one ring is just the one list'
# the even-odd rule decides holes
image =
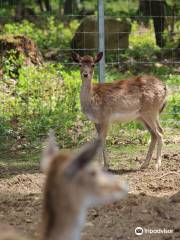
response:
{"label": "brown deer standing by the wire fence, facing the camera", "polygon": [[[166,86],[158,78],[146,75],[112,83],[93,84],[94,66],[102,57],[102,52],[94,58],[72,53],[73,60],[80,66],[82,112],[95,123],[104,146],[111,123],[141,121],[151,134],[150,146],[141,169],[148,167],[157,143],[155,168],[158,170],[163,145],[163,129],[158,118],[166,104]],[[107,168],[105,152],[103,155],[104,166]]]}

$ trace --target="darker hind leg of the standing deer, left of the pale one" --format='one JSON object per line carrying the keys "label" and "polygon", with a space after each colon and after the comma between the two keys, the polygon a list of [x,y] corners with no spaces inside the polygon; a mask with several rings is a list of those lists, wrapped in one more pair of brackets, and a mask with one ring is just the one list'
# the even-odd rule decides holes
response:
{"label": "darker hind leg of the standing deer, left of the pale one", "polygon": [[146,159],[145,159],[143,165],[141,166],[141,169],[145,169],[145,168],[148,167],[149,162],[152,158],[153,151],[154,151],[154,148],[155,148],[155,145],[156,145],[156,142],[157,142],[157,138],[156,138],[155,133],[151,129],[151,127],[149,127],[149,125],[144,120],[141,120],[141,121],[144,123],[145,127],[148,129],[148,131],[151,134],[151,142],[150,142],[149,149],[148,149],[148,152],[147,152],[147,155],[146,155]]}

